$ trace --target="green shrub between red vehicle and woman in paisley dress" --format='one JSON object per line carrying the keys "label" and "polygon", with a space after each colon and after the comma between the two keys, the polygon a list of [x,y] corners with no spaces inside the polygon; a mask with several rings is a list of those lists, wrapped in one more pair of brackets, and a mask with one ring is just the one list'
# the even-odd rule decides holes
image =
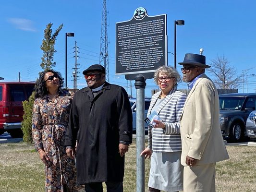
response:
{"label": "green shrub between red vehicle and woman in paisley dress", "polygon": [[23,121],[21,122],[21,129],[23,131],[23,141],[26,143],[33,143],[32,138],[32,111],[35,101],[35,92],[29,97],[28,101],[23,101]]}

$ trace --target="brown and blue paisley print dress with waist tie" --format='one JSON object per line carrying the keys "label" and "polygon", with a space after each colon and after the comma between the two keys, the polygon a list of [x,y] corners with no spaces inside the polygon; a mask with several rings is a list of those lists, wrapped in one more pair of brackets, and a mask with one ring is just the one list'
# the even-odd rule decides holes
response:
{"label": "brown and blue paisley print dress with waist tie", "polygon": [[60,89],[55,100],[44,96],[34,102],[33,140],[37,151],[43,149],[50,159],[45,167],[46,192],[63,192],[63,184],[77,192],[75,162],[67,156],[64,146],[72,99],[73,92]]}

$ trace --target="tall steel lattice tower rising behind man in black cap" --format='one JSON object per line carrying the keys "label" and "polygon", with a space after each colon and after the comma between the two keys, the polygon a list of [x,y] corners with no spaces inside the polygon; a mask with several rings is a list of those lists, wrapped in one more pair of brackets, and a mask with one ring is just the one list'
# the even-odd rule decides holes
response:
{"label": "tall steel lattice tower rising behind man in black cap", "polygon": [[100,51],[99,64],[106,69],[106,81],[110,82],[109,76],[109,47],[108,47],[108,24],[107,24],[107,4],[103,0],[102,21],[101,21],[101,36],[100,36]]}

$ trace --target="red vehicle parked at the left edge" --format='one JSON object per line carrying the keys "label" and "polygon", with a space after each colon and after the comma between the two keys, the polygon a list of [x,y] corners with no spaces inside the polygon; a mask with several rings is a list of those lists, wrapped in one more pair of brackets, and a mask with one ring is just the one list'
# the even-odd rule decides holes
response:
{"label": "red vehicle parked at the left edge", "polygon": [[22,101],[28,100],[34,86],[29,82],[0,82],[0,135],[8,132],[12,138],[23,137]]}

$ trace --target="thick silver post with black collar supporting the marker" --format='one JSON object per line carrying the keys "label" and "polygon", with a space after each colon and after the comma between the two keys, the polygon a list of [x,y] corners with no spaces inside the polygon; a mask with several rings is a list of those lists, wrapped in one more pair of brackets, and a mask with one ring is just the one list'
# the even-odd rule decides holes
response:
{"label": "thick silver post with black collar supporting the marker", "polygon": [[145,149],[145,129],[144,129],[144,111],[145,111],[145,87],[146,82],[142,74],[135,78],[136,88],[136,149],[137,149],[137,192],[145,192],[145,158],[140,156]]}

